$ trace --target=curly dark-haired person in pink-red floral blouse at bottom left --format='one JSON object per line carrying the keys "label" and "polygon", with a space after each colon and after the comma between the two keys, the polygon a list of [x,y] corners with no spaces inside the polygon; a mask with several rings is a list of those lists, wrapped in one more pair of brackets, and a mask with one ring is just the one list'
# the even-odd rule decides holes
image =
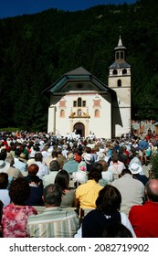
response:
{"label": "curly dark-haired person in pink-red floral blouse at bottom left", "polygon": [[25,177],[17,177],[9,187],[11,204],[5,206],[2,216],[4,238],[26,238],[26,223],[29,215],[37,214],[31,206],[25,206],[29,197],[30,187]]}

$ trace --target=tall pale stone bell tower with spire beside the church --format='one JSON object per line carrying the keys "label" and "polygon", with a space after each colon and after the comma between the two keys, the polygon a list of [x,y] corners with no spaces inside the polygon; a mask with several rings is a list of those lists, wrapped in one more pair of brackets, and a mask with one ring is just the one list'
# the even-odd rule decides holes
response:
{"label": "tall pale stone bell tower with spire beside the church", "polygon": [[118,46],[114,48],[115,61],[109,67],[108,86],[116,92],[116,100],[112,102],[112,134],[131,131],[131,65],[126,62],[126,48],[123,47],[121,36]]}

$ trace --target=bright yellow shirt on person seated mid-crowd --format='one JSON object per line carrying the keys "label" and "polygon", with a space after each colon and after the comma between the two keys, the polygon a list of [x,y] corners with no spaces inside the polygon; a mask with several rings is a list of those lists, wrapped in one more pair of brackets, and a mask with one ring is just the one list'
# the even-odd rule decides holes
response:
{"label": "bright yellow shirt on person seated mid-crowd", "polygon": [[96,208],[95,202],[102,188],[100,184],[92,179],[79,185],[76,189],[76,205],[79,203],[79,208]]}

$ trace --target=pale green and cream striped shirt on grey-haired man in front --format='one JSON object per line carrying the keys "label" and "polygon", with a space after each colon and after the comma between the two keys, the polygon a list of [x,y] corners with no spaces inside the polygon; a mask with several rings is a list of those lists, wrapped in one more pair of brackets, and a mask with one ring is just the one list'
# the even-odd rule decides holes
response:
{"label": "pale green and cream striped shirt on grey-haired man in front", "polygon": [[31,238],[73,238],[78,229],[77,213],[65,208],[46,208],[42,214],[27,219]]}

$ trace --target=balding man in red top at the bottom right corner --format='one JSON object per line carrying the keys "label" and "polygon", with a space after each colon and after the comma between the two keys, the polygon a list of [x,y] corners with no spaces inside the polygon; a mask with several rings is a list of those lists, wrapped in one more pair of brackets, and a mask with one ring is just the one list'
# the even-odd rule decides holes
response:
{"label": "balding man in red top at the bottom right corner", "polygon": [[129,219],[138,238],[158,238],[158,179],[146,183],[145,196],[142,206],[131,208]]}

